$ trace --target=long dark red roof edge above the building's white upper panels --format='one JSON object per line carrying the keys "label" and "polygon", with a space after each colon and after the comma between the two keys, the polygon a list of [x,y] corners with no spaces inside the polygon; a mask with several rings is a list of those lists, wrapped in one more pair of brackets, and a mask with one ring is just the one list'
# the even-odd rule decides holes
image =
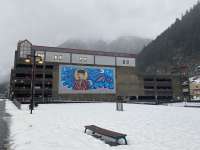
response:
{"label": "long dark red roof edge above the building's white upper panels", "polygon": [[39,46],[32,45],[32,49],[41,50],[41,51],[51,51],[51,52],[66,52],[66,53],[76,53],[76,54],[87,54],[87,55],[101,55],[101,56],[116,56],[116,57],[130,57],[136,58],[136,54],[130,53],[120,53],[120,52],[105,52],[97,50],[88,50],[88,49],[73,49],[73,48],[61,48],[61,47],[49,47],[49,46]]}

